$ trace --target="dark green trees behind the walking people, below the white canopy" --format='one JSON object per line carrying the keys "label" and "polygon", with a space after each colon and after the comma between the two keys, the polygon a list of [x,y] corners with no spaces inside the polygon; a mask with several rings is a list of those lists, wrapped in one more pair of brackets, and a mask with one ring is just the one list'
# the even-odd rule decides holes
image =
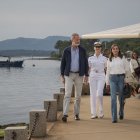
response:
{"label": "dark green trees behind the walking people, below the white canopy", "polygon": [[[99,39],[81,39],[81,45],[86,49],[88,56],[92,55],[94,53],[93,44],[96,41],[100,41]],[[136,51],[140,55],[140,39],[116,39],[111,41],[103,41],[103,53],[106,53],[106,51],[110,50],[110,47],[112,44],[117,44],[122,53],[125,53],[127,51]],[[56,51],[53,51],[51,53],[52,57],[61,58],[63,51],[66,47],[71,45],[71,41],[57,41],[55,44]],[[105,54],[106,55],[106,54]]]}

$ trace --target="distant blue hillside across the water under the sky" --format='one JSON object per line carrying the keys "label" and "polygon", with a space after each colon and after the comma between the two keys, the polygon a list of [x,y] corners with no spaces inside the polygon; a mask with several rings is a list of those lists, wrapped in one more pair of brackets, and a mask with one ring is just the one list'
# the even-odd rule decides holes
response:
{"label": "distant blue hillside across the water under the sky", "polygon": [[70,40],[65,36],[48,36],[44,39],[23,38],[8,39],[0,41],[0,50],[41,50],[54,51],[54,46],[58,40]]}

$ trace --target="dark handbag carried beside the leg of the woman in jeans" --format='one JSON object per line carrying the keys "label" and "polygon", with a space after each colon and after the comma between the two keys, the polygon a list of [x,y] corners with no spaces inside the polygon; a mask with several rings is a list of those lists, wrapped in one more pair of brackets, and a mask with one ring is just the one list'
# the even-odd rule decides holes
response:
{"label": "dark handbag carried beside the leg of the woman in jeans", "polygon": [[125,98],[130,98],[131,97],[131,92],[132,92],[132,87],[129,84],[126,84],[123,88],[123,95],[124,99]]}

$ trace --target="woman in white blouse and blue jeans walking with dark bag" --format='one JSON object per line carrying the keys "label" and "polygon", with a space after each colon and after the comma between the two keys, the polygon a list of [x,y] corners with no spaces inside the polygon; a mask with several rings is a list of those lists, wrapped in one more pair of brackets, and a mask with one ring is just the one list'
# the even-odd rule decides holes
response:
{"label": "woman in white blouse and blue jeans walking with dark bag", "polygon": [[[124,119],[124,78],[126,72],[126,59],[123,58],[117,44],[111,46],[107,61],[106,86],[110,87],[112,123],[117,123],[117,92],[119,94],[119,119]],[[110,85],[110,86],[109,86]]]}

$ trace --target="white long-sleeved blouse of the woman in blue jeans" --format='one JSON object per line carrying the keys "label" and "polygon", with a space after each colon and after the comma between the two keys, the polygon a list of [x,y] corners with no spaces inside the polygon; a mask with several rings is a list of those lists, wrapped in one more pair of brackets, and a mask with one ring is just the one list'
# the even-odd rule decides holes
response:
{"label": "white long-sleeved blouse of the woman in blue jeans", "polygon": [[125,74],[127,70],[127,60],[125,58],[113,57],[112,61],[107,61],[106,84],[109,85],[110,74]]}

